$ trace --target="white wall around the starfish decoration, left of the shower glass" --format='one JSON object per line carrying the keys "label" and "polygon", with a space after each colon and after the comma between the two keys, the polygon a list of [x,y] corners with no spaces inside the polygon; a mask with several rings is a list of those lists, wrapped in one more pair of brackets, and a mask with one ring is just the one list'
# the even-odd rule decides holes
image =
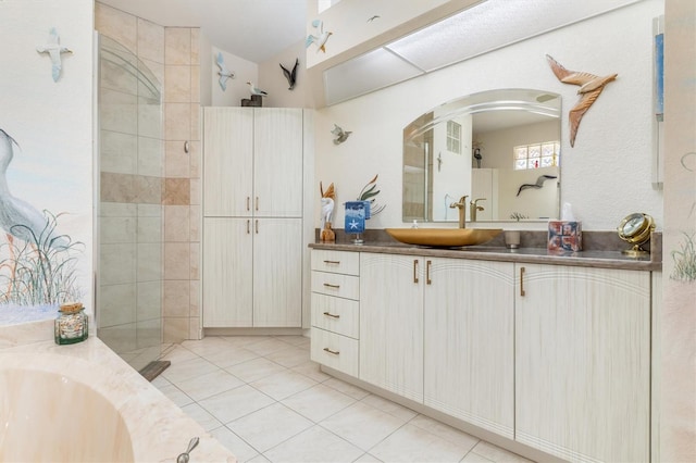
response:
{"label": "white wall around the starfish decoration, left of the shower glass", "polygon": [[[51,60],[36,47],[55,27],[62,75],[51,77]],[[92,43],[91,0],[0,1],[0,128],[12,136],[8,172],[11,193],[53,214],[58,232],[85,243],[77,258],[83,302],[92,310]],[[4,233],[1,241],[4,243]]]}

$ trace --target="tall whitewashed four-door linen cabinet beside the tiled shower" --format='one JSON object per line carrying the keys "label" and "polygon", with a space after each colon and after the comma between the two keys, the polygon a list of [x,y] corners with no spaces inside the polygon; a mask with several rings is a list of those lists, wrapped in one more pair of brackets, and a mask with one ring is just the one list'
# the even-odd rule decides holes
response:
{"label": "tall whitewashed four-door linen cabinet beside the tiled shower", "polygon": [[203,328],[302,326],[309,125],[302,109],[203,109]]}

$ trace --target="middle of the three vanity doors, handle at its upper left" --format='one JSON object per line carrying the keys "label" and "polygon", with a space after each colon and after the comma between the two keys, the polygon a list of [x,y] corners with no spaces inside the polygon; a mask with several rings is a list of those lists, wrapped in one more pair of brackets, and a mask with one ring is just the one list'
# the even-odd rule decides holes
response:
{"label": "middle of the three vanity doors, handle at its upper left", "polygon": [[514,438],[513,264],[425,265],[425,405]]}

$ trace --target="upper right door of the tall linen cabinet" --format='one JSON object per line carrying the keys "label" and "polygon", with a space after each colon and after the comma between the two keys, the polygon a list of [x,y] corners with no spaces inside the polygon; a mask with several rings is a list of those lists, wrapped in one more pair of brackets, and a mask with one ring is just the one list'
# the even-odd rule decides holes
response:
{"label": "upper right door of the tall linen cabinet", "polygon": [[256,216],[302,216],[302,110],[254,109]]}

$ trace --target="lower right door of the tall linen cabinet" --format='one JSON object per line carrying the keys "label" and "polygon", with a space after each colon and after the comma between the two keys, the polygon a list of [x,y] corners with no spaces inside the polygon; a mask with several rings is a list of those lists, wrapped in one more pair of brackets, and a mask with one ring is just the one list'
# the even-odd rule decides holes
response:
{"label": "lower right door of the tall linen cabinet", "polygon": [[302,220],[253,220],[253,326],[302,326]]}

